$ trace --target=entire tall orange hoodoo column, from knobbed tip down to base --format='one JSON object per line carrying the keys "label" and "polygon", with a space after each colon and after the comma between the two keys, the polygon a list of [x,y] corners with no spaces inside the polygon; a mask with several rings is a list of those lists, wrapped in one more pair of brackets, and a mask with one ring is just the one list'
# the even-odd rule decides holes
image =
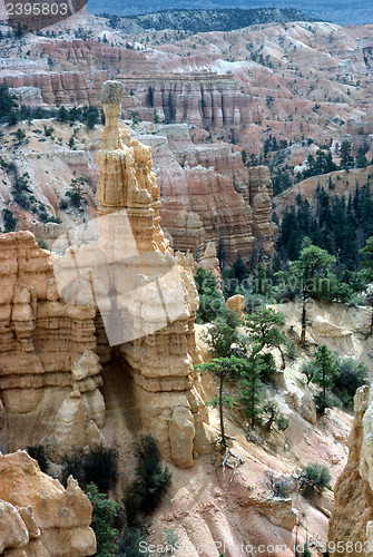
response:
{"label": "entire tall orange hoodoo column, from knobbed tip down to base", "polygon": [[[129,264],[117,261],[114,270],[111,301],[120,299],[118,309],[134,336],[121,344],[120,353],[134,378],[144,430],[155,434],[165,458],[187,467],[194,455],[209,450],[207,412],[193,368],[199,361],[194,333],[198,295],[187,258],[174,256],[160,228],[151,149],[119,128],[121,91],[118,82],[104,86],[107,124],[98,153],[97,187],[101,218],[125,212],[139,254]],[[120,290],[124,276],[127,302]],[[138,286],[145,290],[134,302],[129,292]],[[180,307],[173,314],[178,302]]]}

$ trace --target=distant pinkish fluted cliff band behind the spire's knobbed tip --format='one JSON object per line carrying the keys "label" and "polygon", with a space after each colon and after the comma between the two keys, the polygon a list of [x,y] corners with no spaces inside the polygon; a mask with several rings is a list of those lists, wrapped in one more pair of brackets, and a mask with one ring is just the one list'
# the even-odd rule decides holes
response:
{"label": "distant pinkish fluted cliff band behind the spire's knobbed tip", "polygon": [[[12,88],[21,88],[27,105],[35,105],[37,97],[41,105],[55,107],[79,104],[99,107],[104,81],[116,76],[126,88],[122,105],[126,117],[137,111],[151,121],[156,113],[159,119],[209,125],[219,130],[248,125],[255,119],[248,87],[227,74],[171,72],[173,63],[180,63],[175,57],[92,39],[43,39],[35,42],[32,50],[38,61],[0,59],[2,80]],[[39,91],[38,95],[29,99],[27,87]]]}

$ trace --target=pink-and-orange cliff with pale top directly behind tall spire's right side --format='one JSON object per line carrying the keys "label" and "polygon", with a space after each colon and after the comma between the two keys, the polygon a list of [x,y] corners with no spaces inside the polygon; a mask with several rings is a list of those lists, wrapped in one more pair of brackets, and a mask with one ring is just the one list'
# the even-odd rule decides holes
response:
{"label": "pink-and-orange cliff with pale top directly behind tall spire's right side", "polygon": [[193,144],[187,125],[161,126],[158,134],[140,139],[153,147],[160,215],[175,250],[198,258],[214,242],[224,264],[238,254],[251,265],[272,256],[277,227],[269,170],[245,167],[227,144]]}

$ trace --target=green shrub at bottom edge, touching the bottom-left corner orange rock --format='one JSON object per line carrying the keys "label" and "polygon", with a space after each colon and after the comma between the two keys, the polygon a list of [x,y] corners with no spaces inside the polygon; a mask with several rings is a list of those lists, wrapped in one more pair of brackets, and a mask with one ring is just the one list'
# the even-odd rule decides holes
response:
{"label": "green shrub at bottom edge, touching the bottom-left corner orange rock", "polygon": [[87,486],[87,497],[92,505],[91,528],[95,531],[97,541],[97,557],[110,557],[117,555],[116,539],[118,530],[112,524],[119,510],[119,505],[100,494],[95,483]]}

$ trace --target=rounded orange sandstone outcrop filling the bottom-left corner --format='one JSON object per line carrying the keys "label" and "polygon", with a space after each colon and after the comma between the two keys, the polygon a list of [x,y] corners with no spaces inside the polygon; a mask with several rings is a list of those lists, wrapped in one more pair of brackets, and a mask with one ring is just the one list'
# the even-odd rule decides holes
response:
{"label": "rounded orange sandstone outcrop filling the bottom-left corner", "polygon": [[67,489],[27,452],[0,455],[0,555],[86,557],[96,554],[92,507],[76,480]]}

